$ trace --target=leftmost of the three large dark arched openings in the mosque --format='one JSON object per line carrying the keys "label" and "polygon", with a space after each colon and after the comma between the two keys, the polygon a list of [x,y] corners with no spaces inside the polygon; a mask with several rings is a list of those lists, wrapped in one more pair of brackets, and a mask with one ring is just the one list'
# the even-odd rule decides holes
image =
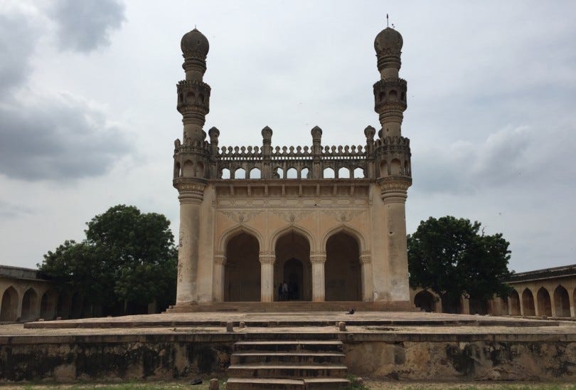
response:
{"label": "leftmost of the three large dark arched openings in the mosque", "polygon": [[224,300],[260,302],[260,245],[257,238],[240,233],[226,245]]}

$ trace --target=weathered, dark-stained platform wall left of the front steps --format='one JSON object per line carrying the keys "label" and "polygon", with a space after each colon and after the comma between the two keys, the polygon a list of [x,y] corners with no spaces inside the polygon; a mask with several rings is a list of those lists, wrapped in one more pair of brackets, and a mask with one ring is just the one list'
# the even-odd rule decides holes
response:
{"label": "weathered, dark-stained platform wall left of the front steps", "polygon": [[145,339],[2,345],[0,380],[159,380],[222,374],[230,364],[232,345]]}

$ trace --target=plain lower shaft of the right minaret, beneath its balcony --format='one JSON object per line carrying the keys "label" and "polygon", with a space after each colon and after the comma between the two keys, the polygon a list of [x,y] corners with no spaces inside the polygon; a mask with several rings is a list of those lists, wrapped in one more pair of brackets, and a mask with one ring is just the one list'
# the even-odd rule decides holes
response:
{"label": "plain lower shaft of the right minaret, beneath its balcony", "polygon": [[383,233],[389,261],[390,300],[409,301],[405,202],[412,179],[405,176],[388,176],[379,179],[378,182],[385,207]]}

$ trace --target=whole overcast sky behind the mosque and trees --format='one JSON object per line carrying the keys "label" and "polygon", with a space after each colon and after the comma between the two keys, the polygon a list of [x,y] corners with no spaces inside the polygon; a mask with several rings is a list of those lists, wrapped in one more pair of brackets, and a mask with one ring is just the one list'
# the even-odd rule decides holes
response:
{"label": "whole overcast sky behind the mosque and trees", "polygon": [[[216,5],[214,5],[216,4]],[[517,272],[576,263],[575,1],[0,0],[0,264],[34,268],[115,204],[165,214],[180,39],[210,41],[220,145],[363,144],[373,41],[402,33],[422,219],[478,220]],[[177,236],[177,234],[175,234]]]}

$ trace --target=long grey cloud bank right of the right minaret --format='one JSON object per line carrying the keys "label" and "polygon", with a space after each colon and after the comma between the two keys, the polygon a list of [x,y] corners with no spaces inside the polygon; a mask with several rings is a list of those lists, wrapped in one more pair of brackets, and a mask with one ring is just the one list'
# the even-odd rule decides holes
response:
{"label": "long grey cloud bank right of the right minaret", "polygon": [[525,186],[533,179],[539,184],[565,180],[566,175],[576,175],[576,157],[570,151],[576,144],[572,128],[566,124],[543,134],[534,127],[509,126],[478,144],[416,145],[415,186],[422,192],[466,194],[508,184]]}

